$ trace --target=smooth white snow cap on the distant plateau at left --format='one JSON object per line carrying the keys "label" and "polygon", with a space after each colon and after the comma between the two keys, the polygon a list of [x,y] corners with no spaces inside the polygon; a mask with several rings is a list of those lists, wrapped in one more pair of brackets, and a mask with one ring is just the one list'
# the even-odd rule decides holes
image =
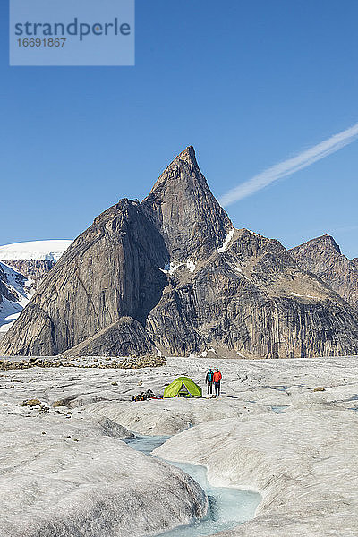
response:
{"label": "smooth white snow cap on the distant plateau at left", "polygon": [[0,260],[52,260],[60,259],[72,241],[31,241],[0,246]]}

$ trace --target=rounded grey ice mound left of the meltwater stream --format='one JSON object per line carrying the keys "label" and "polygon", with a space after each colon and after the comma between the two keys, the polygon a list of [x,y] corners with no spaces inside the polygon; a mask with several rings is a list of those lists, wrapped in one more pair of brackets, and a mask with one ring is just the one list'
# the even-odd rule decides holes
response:
{"label": "rounded grey ice mound left of the meltwater stream", "polygon": [[128,447],[116,423],[75,409],[4,410],[2,537],[140,537],[205,515],[200,487]]}

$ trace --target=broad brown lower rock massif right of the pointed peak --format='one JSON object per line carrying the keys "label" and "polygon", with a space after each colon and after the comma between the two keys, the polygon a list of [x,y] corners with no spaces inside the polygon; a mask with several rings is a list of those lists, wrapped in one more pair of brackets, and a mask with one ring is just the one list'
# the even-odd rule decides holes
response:
{"label": "broad brown lower rock massif right of the pointed peak", "polygon": [[358,316],[319,279],[303,273],[286,249],[235,230],[226,252],[213,251],[195,273],[169,276],[147,329],[169,354],[209,347],[232,357],[354,354]]}

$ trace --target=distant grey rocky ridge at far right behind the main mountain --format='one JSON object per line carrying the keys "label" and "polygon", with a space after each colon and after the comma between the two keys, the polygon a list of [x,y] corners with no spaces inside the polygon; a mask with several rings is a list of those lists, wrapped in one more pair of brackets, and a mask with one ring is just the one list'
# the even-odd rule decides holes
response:
{"label": "distant grey rocky ridge at far right behind the main mountain", "polygon": [[340,251],[326,234],[290,250],[300,268],[312,272],[340,294],[358,311],[358,263]]}

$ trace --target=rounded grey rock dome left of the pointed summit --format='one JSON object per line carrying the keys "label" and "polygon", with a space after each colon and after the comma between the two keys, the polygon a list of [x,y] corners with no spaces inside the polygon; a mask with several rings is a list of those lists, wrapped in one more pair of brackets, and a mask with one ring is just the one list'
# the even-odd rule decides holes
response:
{"label": "rounded grey rock dome left of the pointed summit", "polygon": [[61,354],[122,317],[143,324],[166,286],[158,266],[168,259],[139,202],[121,200],[64,252],[1,340],[0,353]]}

